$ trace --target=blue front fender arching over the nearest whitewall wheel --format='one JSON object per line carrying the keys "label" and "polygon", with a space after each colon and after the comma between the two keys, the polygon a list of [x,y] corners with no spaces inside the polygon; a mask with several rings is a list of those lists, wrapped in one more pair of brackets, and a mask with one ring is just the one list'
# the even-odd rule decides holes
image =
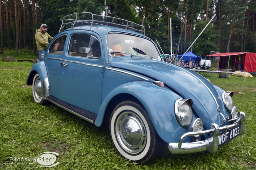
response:
{"label": "blue front fender arching over the nearest whitewall wheel", "polygon": [[111,99],[121,93],[130,94],[142,103],[163,141],[177,142],[181,134],[191,131],[191,127],[190,130],[182,128],[175,117],[175,101],[181,97],[168,88],[145,81],[129,82],[113,89],[102,102],[95,120],[96,126],[101,125]]}

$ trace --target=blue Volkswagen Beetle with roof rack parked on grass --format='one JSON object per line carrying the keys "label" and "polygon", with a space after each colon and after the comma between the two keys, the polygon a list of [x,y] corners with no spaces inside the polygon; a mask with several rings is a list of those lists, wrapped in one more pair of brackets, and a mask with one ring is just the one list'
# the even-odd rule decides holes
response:
{"label": "blue Volkswagen Beetle with roof rack parked on grass", "polygon": [[[91,19],[79,19],[86,15]],[[119,18],[64,17],[27,85],[37,103],[54,103],[96,126],[108,121],[116,150],[137,163],[163,145],[174,154],[214,153],[245,133],[233,92],[164,62],[143,26]]]}

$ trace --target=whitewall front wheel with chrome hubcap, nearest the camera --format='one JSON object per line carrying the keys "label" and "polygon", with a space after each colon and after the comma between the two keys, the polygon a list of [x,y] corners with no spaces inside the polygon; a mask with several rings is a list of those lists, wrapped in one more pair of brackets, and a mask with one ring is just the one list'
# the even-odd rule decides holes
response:
{"label": "whitewall front wheel with chrome hubcap, nearest the camera", "polygon": [[160,151],[159,138],[147,111],[135,101],[119,103],[110,118],[110,135],[126,159],[146,163]]}

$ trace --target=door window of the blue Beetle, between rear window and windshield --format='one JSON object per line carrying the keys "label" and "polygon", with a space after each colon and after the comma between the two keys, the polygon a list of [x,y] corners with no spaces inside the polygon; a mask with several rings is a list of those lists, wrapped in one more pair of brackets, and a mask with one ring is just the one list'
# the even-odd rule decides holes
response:
{"label": "door window of the blue Beetle, between rear window and windshield", "polygon": [[88,34],[74,34],[71,36],[68,54],[88,58],[100,58],[99,40]]}

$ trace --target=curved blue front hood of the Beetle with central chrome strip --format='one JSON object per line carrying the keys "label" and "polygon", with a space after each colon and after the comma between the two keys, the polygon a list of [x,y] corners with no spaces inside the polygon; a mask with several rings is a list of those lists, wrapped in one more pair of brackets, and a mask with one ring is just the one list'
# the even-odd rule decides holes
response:
{"label": "curved blue front hood of the Beetle with central chrome strip", "polygon": [[214,86],[198,73],[167,62],[145,58],[116,59],[111,61],[110,65],[162,81],[182,98],[192,99],[192,109],[203,120],[206,129],[210,129],[212,123],[219,126],[223,124],[218,111],[219,107],[220,112],[225,112],[221,96]]}

